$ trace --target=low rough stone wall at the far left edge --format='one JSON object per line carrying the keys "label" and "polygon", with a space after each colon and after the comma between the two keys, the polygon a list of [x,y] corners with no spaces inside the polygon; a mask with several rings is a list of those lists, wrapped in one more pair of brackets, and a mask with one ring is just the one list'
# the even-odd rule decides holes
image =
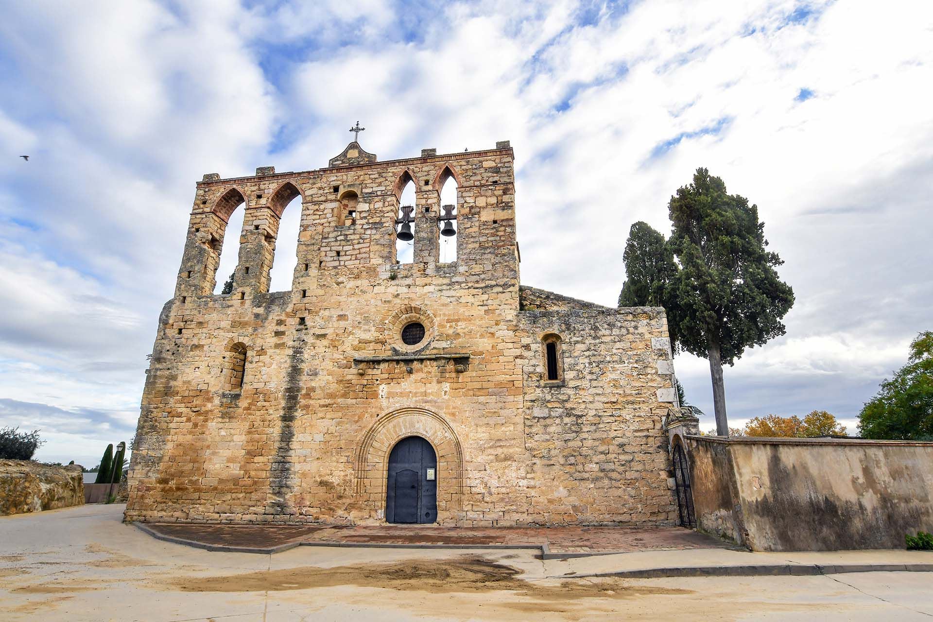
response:
{"label": "low rough stone wall at the far left edge", "polygon": [[84,478],[77,464],[49,466],[31,460],[0,460],[0,516],[83,503]]}

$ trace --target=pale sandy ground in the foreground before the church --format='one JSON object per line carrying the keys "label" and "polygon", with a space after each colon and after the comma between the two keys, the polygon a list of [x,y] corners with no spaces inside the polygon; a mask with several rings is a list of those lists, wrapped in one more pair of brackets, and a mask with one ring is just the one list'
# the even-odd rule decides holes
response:
{"label": "pale sandy ground in the foreground before the church", "polygon": [[[580,579],[529,550],[160,542],[122,505],[0,518],[0,620],[929,620],[933,574]],[[609,560],[598,560],[605,569]],[[569,570],[573,568],[574,570]]]}

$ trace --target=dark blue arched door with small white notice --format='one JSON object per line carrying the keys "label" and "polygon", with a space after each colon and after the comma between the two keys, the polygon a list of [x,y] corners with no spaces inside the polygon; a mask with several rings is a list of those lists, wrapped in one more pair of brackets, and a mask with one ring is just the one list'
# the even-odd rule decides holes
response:
{"label": "dark blue arched door with small white notice", "polygon": [[438,456],[421,436],[398,441],[389,454],[385,519],[431,523],[438,519]]}

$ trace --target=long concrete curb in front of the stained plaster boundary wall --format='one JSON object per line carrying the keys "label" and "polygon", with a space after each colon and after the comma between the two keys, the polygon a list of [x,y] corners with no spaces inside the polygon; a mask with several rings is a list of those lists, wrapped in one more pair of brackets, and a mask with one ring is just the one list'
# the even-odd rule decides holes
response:
{"label": "long concrete curb in front of the stained plaster boundary wall", "polygon": [[684,568],[645,568],[614,573],[559,574],[550,579],[583,579],[616,576],[626,579],[662,579],[683,576],[813,576],[844,573],[933,573],[933,563],[875,564],[755,564],[746,566],[688,566]]}

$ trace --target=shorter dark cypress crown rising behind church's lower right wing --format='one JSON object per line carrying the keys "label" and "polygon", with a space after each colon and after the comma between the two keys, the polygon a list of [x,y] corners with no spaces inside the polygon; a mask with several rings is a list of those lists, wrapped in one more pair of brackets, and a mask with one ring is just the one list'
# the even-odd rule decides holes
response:
{"label": "shorter dark cypress crown rising behind church's lower right wing", "polygon": [[677,273],[674,252],[648,223],[636,222],[625,242],[625,283],[619,294],[620,307],[663,307]]}

